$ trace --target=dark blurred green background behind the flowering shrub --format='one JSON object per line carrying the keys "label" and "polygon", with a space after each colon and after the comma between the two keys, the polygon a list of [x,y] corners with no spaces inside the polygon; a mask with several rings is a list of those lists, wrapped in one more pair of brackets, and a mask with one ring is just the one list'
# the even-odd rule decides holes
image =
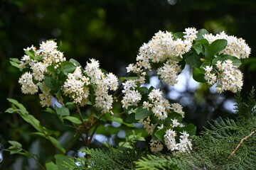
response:
{"label": "dark blurred green background behind the flowering shrub", "polygon": [[[210,33],[224,30],[246,40],[252,49],[250,59],[242,60],[241,67],[245,79],[242,95],[246,96],[256,84],[255,0],[0,0],[0,143],[8,147],[8,140],[18,140],[24,148],[36,145],[36,137],[30,135],[34,130],[18,116],[4,113],[9,108],[6,98],[23,103],[43,125],[61,128],[52,115],[41,111],[37,96],[21,94],[17,83],[21,73],[11,67],[9,58],[22,57],[23,48],[55,39],[63,43],[67,59],[85,66],[89,58],[95,58],[103,69],[120,77],[125,75],[125,67],[135,62],[142,43],[158,30],[178,32],[188,27],[206,28]],[[178,94],[170,100],[183,104],[185,121],[197,125],[198,132],[209,120],[233,115],[234,94],[215,94],[202,84],[191,89],[187,83],[182,91],[158,86],[166,94]],[[44,152],[52,152],[50,149],[46,147]],[[18,164],[16,157],[5,155],[9,159],[1,168]]]}

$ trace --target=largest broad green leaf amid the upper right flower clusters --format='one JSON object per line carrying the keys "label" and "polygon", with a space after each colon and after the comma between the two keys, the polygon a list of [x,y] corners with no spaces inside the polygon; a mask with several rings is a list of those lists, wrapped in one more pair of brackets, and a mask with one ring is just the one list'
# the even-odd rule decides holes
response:
{"label": "largest broad green leaf amid the upper right flower clusters", "polygon": [[227,40],[215,40],[208,47],[206,47],[206,60],[212,60],[214,55],[218,54],[225,49],[225,46],[228,44]]}

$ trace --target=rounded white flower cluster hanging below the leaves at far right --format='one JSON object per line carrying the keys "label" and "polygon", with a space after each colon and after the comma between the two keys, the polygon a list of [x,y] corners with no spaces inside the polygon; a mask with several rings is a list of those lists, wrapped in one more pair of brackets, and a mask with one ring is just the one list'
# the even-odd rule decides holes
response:
{"label": "rounded white flower cluster hanging below the leaves at far right", "polygon": [[210,85],[217,84],[216,90],[218,93],[222,93],[223,91],[236,93],[242,89],[242,72],[237,66],[233,65],[231,60],[225,60],[224,62],[218,61],[215,67],[218,77],[213,72],[213,66],[206,66],[204,78]]}

